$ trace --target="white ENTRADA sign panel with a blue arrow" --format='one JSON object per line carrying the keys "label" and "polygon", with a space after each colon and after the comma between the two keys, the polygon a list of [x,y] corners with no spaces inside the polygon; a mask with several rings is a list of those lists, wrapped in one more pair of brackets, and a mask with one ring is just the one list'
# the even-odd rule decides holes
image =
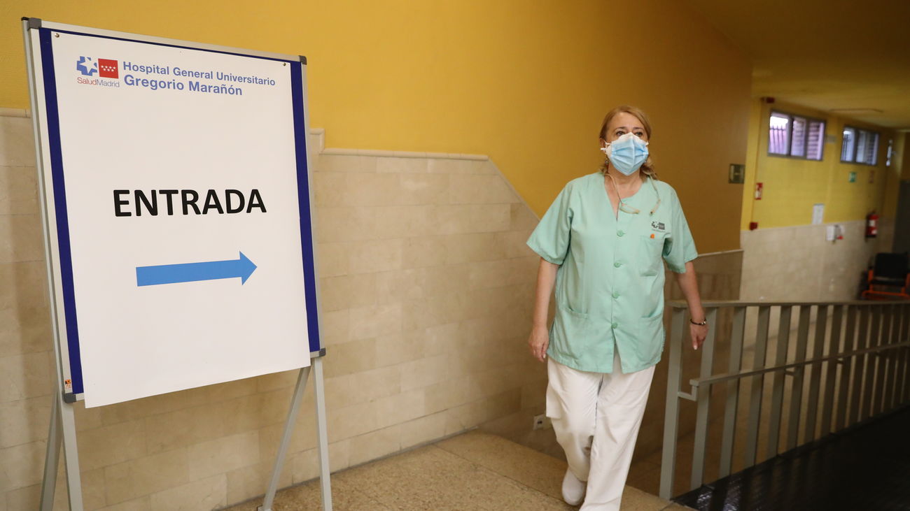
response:
{"label": "white ENTRADA sign panel with a blue arrow", "polygon": [[42,32],[86,406],[308,366],[299,63]]}

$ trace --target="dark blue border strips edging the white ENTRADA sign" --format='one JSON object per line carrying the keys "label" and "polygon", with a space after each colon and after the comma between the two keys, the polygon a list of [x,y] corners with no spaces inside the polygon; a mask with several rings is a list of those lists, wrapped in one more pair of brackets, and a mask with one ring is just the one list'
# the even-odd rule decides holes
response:
{"label": "dark blue border strips edging the white ENTRADA sign", "polygon": [[54,210],[56,212],[56,234],[60,254],[60,281],[63,287],[64,316],[66,318],[66,347],[69,354],[70,379],[73,394],[83,394],[85,387],[82,378],[82,361],[79,353],[79,328],[76,315],[76,289],[73,285],[73,258],[69,242],[69,219],[66,214],[66,185],[64,182],[63,152],[60,145],[60,115],[57,105],[56,74],[54,70],[54,48],[51,37],[53,33],[85,35],[101,39],[129,41],[144,45],[167,46],[209,52],[224,55],[238,55],[249,58],[260,58],[277,62],[287,62],[291,80],[291,104],[294,112],[294,145],[297,156],[297,190],[300,222],[300,250],[303,255],[304,292],[307,300],[307,328],[309,352],[321,349],[319,337],[319,314],[316,304],[316,266],[313,258],[312,214],[309,202],[309,169],[307,160],[307,125],[303,94],[303,64],[299,61],[272,58],[261,55],[247,55],[237,52],[198,48],[194,46],[169,45],[151,41],[141,41],[126,37],[86,34],[69,30],[39,28],[38,38],[41,45],[42,74],[45,87],[45,108],[47,115],[48,149],[50,150],[51,175],[54,177]]}

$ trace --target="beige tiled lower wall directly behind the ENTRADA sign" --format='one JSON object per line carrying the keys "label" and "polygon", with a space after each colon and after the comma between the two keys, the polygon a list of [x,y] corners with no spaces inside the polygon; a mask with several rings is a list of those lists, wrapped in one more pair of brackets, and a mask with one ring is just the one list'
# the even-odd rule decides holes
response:
{"label": "beige tiled lower wall directly behind the ENTRADA sign", "polygon": [[[0,511],[18,511],[39,496],[53,360],[31,120],[2,114]],[[524,346],[531,210],[485,158],[336,153],[316,158],[313,179],[332,469],[540,413],[545,373]],[[86,507],[261,495],[295,378],[77,404]],[[318,472],[309,389],[302,410],[281,486]],[[57,490],[64,508],[62,475]]]}

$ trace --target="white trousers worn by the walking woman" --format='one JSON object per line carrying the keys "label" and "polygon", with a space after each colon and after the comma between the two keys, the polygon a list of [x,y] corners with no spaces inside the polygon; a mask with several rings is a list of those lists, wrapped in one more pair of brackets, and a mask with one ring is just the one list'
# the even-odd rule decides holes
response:
{"label": "white trousers worn by the walking woman", "polygon": [[588,487],[581,509],[619,510],[654,366],[622,374],[587,373],[549,359],[547,416],[569,469]]}

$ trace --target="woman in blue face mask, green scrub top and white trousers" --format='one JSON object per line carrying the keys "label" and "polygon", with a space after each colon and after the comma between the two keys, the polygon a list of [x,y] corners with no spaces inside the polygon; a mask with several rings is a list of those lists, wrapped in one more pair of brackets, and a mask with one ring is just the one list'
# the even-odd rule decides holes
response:
{"label": "woman in blue face mask, green scrub top and white trousers", "polygon": [[695,349],[708,332],[698,254],[676,192],[654,173],[650,138],[641,110],[614,108],[601,126],[600,172],[570,181],[528,240],[541,255],[528,344],[541,362],[549,355],[547,416],[569,461],[562,496],[584,510],[620,508],[663,350],[662,260],[689,304]]}

